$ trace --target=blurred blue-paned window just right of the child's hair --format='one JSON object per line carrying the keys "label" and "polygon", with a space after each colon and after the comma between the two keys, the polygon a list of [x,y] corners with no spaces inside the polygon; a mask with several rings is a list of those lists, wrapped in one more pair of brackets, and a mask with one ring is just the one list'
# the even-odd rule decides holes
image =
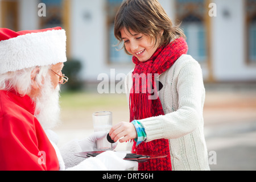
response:
{"label": "blurred blue-paned window just right of the child's hair", "polygon": [[199,62],[207,61],[207,32],[203,0],[176,0],[177,19],[187,36],[188,54]]}

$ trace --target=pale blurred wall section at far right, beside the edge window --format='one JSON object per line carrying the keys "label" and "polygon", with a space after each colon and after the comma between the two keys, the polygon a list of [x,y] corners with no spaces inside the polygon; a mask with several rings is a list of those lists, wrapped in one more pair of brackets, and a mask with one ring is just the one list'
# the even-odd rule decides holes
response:
{"label": "pale blurred wall section at far right, beside the edge window", "polygon": [[[216,81],[256,80],[256,67],[246,64],[245,11],[241,0],[215,0],[212,19],[213,71]],[[229,16],[225,16],[224,12]]]}

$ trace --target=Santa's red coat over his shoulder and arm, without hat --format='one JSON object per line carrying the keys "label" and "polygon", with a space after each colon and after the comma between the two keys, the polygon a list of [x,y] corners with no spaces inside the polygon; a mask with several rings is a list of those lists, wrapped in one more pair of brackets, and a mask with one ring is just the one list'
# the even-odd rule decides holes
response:
{"label": "Santa's red coat over his shoulder and arm, without hat", "polygon": [[30,97],[0,90],[0,170],[59,170]]}

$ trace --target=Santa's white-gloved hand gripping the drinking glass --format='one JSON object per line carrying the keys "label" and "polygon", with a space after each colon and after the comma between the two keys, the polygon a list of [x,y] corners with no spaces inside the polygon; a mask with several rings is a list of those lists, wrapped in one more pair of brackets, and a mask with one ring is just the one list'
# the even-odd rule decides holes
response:
{"label": "Santa's white-gloved hand gripping the drinking glass", "polygon": [[[90,137],[80,140],[79,144],[82,148],[82,151],[97,151],[96,141],[106,137],[108,133],[105,131],[98,131],[90,135]],[[112,149],[117,147],[117,143],[112,144]]]}

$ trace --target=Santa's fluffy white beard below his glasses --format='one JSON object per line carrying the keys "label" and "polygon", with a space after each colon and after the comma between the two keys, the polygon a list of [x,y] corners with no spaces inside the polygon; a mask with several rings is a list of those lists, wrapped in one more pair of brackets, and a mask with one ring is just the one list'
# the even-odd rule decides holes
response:
{"label": "Santa's fluffy white beard below his glasses", "polygon": [[45,80],[40,96],[34,100],[35,117],[42,125],[44,130],[53,129],[60,122],[60,106],[59,106],[60,86],[55,89],[48,77]]}

